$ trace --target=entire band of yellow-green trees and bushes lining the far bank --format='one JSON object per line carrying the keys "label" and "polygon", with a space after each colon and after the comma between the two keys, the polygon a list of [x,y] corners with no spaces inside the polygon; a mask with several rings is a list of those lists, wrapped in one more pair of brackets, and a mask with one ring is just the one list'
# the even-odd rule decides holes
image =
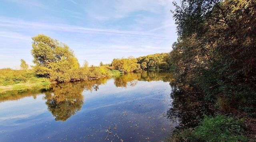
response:
{"label": "entire band of yellow-green trees and bushes lining the far bank", "polygon": [[85,60],[80,66],[74,52],[66,44],[44,34],[38,34],[32,40],[31,53],[35,65],[29,69],[21,59],[22,70],[1,69],[0,86],[92,80],[141,70],[168,70],[170,67],[168,53],[116,58],[111,64],[100,62],[100,66],[88,66]]}

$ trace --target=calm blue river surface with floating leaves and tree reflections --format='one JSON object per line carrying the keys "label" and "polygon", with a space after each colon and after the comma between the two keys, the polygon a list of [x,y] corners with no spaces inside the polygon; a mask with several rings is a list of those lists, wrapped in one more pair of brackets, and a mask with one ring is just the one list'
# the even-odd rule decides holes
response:
{"label": "calm blue river surface with floating leaves and tree reflections", "polygon": [[173,104],[171,80],[170,73],[145,71],[6,92],[0,95],[0,141],[162,141],[195,118],[183,118],[178,99]]}

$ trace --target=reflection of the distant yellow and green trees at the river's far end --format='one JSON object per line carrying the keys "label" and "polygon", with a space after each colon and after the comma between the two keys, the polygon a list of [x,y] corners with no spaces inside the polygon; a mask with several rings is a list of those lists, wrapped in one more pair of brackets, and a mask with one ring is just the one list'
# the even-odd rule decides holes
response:
{"label": "reflection of the distant yellow and green trees at the river's far end", "polygon": [[139,81],[159,81],[170,82],[173,80],[172,74],[169,72],[160,71],[142,71],[142,72],[130,72],[122,76],[114,78],[114,84],[116,87],[135,86]]}

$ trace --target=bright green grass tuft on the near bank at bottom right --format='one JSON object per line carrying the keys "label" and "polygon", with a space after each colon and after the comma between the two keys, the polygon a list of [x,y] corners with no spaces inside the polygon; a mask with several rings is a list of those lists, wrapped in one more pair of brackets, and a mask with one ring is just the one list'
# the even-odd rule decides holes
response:
{"label": "bright green grass tuft on the near bank at bottom right", "polygon": [[217,115],[205,116],[202,123],[192,129],[176,131],[167,142],[246,142],[241,120]]}

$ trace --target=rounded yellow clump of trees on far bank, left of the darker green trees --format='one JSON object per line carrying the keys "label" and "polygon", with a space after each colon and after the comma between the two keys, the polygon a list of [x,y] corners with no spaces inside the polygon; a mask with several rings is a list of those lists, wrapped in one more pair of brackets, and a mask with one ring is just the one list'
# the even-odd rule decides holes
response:
{"label": "rounded yellow clump of trees on far bank, left of the darker green trees", "polygon": [[129,58],[120,58],[113,59],[111,66],[115,70],[119,70],[120,72],[135,72],[140,69],[140,64],[137,63],[137,59],[133,57]]}

